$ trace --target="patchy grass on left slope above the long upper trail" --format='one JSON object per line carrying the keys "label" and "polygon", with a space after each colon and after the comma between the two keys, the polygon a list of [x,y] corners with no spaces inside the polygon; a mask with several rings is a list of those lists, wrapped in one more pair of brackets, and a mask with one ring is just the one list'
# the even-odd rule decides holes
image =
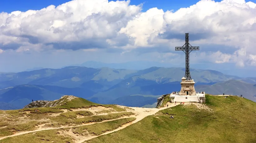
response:
{"label": "patchy grass on left slope above the long upper trail", "polygon": [[[132,115],[133,113],[125,112],[125,108],[119,108],[116,105],[101,105],[90,102],[82,98],[74,98],[69,101],[66,97],[53,101],[56,102],[56,107],[42,107],[42,108],[23,108],[18,110],[0,111],[0,136],[9,136],[17,131],[31,131],[36,128],[36,125],[42,124],[41,119],[46,119],[47,127],[60,127],[63,125],[77,125],[87,122],[101,122],[104,120],[116,119],[124,116]],[[58,103],[57,103],[58,102]],[[61,104],[62,103],[62,104]],[[52,103],[55,104],[55,103]],[[72,111],[72,108],[90,108],[93,106],[103,106],[112,108],[113,112],[122,112],[107,114],[102,116],[92,116],[90,111]],[[35,112],[35,110],[38,112]],[[66,113],[62,109],[70,111]],[[104,111],[104,112],[107,112]],[[52,113],[60,113],[56,117],[51,117]],[[84,118],[77,118],[77,115],[85,116]],[[91,116],[91,117],[87,117]],[[5,127],[7,126],[7,127]]]}

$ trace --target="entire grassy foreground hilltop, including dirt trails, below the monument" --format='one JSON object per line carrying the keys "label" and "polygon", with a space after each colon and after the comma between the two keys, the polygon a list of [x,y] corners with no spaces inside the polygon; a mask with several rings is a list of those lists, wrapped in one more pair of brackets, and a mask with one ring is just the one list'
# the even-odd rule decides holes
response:
{"label": "entire grassy foreground hilltop, including dirt trails, below the monument", "polygon": [[205,104],[168,104],[171,108],[129,108],[64,96],[48,107],[2,110],[0,143],[256,142],[251,100],[206,95]]}

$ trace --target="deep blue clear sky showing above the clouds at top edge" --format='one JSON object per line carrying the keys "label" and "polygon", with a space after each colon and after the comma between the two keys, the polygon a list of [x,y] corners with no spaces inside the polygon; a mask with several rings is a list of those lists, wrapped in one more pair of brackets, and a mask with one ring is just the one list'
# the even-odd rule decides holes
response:
{"label": "deep blue clear sky showing above the clouds at top edge", "polygon": [[[27,10],[39,10],[49,5],[58,6],[62,3],[69,2],[70,0],[2,0],[0,5],[1,12],[13,12],[13,11],[27,11]],[[116,0],[114,0],[116,1]],[[220,2],[221,0],[215,0]],[[256,0],[251,0],[255,2]],[[166,10],[178,10],[180,7],[189,7],[198,2],[197,0],[131,0],[130,4],[138,5],[144,3],[143,11],[152,7],[158,7]]]}

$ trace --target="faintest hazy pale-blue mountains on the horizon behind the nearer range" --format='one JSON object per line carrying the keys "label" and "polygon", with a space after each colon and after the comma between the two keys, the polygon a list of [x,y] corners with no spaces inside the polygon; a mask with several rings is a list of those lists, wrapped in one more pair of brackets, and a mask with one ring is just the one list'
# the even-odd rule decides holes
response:
{"label": "faintest hazy pale-blue mountains on the horizon behind the nearer range", "polygon": [[[185,60],[184,60],[185,64]],[[150,67],[180,67],[180,64],[168,63],[168,62],[155,62],[155,61],[132,61],[123,63],[104,63],[96,61],[87,61],[81,65],[74,66],[84,66],[92,68],[109,67],[114,69],[131,69],[131,70],[143,70]],[[234,63],[190,63],[191,68],[203,69],[203,70],[217,70],[226,75],[239,76],[239,77],[256,77],[256,69],[254,67],[238,68]]]}

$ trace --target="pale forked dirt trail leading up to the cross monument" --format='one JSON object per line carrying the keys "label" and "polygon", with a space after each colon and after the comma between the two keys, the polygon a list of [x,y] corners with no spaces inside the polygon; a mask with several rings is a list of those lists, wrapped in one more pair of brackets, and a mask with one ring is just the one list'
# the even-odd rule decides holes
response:
{"label": "pale forked dirt trail leading up to the cross monument", "polygon": [[[170,107],[174,107],[178,104],[174,104],[174,103],[167,103],[168,104],[168,108]],[[131,118],[131,117],[135,117],[136,119],[128,124],[125,124],[113,131],[107,131],[101,135],[98,135],[98,136],[102,136],[102,135],[106,135],[106,134],[109,134],[109,133],[112,133],[112,132],[115,132],[115,131],[119,131],[121,129],[124,129],[136,122],[139,122],[140,120],[142,120],[143,118],[149,116],[149,115],[154,115],[155,113],[157,113],[158,111],[160,110],[163,110],[163,109],[166,109],[167,108],[167,104],[165,105],[165,107],[162,107],[162,108],[139,108],[139,107],[129,107],[131,109],[127,109],[126,112],[133,112],[135,113],[135,115],[131,115],[129,117],[121,117],[121,118]],[[123,107],[125,108],[126,106],[120,106],[120,105],[117,105],[119,107]],[[49,128],[41,128],[41,129],[37,129],[37,130],[33,130],[33,131],[22,131],[22,132],[17,132],[13,135],[10,135],[10,136],[4,136],[4,137],[1,137],[0,140],[2,139],[5,139],[5,138],[8,138],[8,137],[13,137],[13,136],[19,136],[19,135],[24,135],[24,134],[28,134],[28,133],[33,133],[33,132],[37,132],[37,131],[45,131],[45,130],[53,130],[53,129],[61,129],[61,128],[69,128],[69,127],[79,127],[79,126],[86,126],[86,125],[92,125],[92,124],[97,124],[97,123],[103,123],[103,122],[109,122],[109,121],[114,121],[114,120],[118,120],[118,119],[121,119],[121,118],[116,118],[116,119],[112,119],[112,120],[104,120],[102,122],[91,122],[91,123],[86,123],[86,124],[82,124],[82,125],[76,125],[76,126],[62,126],[62,127],[55,127],[55,128],[52,128],[52,127],[49,127]],[[83,137],[82,140],[79,140],[79,141],[76,141],[76,143],[82,143],[84,141],[87,141],[87,140],[90,140],[90,139],[93,139],[93,138],[96,138],[98,136],[87,136],[87,137]]]}

